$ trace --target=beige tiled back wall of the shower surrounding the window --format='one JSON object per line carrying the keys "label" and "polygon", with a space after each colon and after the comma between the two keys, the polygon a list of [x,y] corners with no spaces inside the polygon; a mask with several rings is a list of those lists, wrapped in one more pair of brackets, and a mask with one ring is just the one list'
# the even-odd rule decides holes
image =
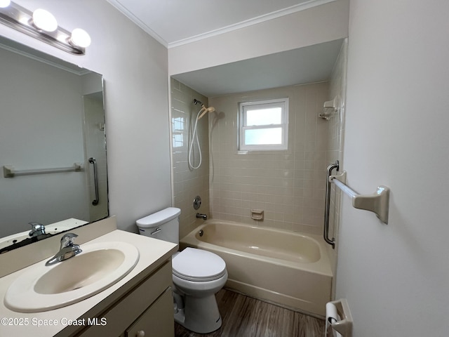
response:
{"label": "beige tiled back wall of the shower surrounding the window", "polygon": [[[213,218],[321,234],[329,123],[318,114],[328,89],[321,82],[209,98]],[[285,97],[288,150],[239,154],[239,103]],[[252,209],[263,210],[264,220],[253,220]]]}

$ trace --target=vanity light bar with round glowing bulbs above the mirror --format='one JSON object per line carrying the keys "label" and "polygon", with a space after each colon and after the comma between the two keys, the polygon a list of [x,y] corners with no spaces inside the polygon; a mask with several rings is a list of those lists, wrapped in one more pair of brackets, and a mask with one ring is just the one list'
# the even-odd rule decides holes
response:
{"label": "vanity light bar with round glowing bulbs above the mirror", "polygon": [[0,22],[76,55],[84,55],[91,44],[91,37],[85,30],[75,28],[69,32],[58,26],[50,12],[41,8],[32,12],[11,0],[0,0]]}

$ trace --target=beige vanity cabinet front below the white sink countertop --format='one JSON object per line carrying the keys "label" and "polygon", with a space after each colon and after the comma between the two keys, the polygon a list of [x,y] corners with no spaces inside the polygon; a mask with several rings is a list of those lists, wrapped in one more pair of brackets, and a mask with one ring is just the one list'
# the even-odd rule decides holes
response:
{"label": "beige vanity cabinet front below the white sink countertop", "polygon": [[125,296],[95,315],[93,321],[91,318],[93,325],[72,336],[173,337],[171,285],[172,267],[168,260]]}

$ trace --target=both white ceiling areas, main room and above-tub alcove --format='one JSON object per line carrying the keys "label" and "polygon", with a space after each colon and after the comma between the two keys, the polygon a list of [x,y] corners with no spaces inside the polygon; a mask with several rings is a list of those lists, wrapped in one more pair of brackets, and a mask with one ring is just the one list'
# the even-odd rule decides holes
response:
{"label": "both white ceiling areas, main room and above-tub alcove", "polygon": [[[107,0],[167,48],[334,0]],[[173,77],[208,97],[323,81],[342,40]]]}

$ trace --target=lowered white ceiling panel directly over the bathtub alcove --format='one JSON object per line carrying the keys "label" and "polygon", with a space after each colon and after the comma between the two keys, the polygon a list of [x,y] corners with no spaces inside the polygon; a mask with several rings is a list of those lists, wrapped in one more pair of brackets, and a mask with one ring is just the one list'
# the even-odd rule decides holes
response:
{"label": "lowered white ceiling panel directly over the bathtub alcove", "polygon": [[342,40],[173,75],[206,97],[326,81]]}

